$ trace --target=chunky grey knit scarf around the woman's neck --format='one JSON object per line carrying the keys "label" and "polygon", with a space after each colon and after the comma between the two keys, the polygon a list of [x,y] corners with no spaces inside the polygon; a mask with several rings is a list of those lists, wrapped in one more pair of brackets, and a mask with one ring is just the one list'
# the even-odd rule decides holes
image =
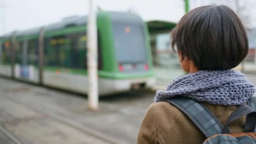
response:
{"label": "chunky grey knit scarf around the woman's neck", "polygon": [[210,104],[240,105],[255,93],[245,75],[234,70],[199,71],[173,80],[165,91],[159,90],[155,102],[184,96]]}

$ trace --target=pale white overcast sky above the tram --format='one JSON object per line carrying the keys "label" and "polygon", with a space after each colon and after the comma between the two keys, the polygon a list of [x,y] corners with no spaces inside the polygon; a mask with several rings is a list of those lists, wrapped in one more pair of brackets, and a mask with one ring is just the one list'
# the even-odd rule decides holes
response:
{"label": "pale white overcast sky above the tram", "polygon": [[[128,11],[132,9],[145,21],[158,19],[177,22],[184,15],[184,0],[94,1],[95,5],[103,10]],[[190,8],[211,3],[210,1],[190,0]],[[0,34],[40,27],[64,17],[87,13],[88,0],[0,0]],[[251,15],[256,16],[256,11],[252,11]],[[252,25],[254,27],[256,22]]]}

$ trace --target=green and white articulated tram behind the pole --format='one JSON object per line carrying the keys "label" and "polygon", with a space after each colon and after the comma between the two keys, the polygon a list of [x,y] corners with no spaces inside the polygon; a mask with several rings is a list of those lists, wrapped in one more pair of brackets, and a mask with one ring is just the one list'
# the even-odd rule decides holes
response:
{"label": "green and white articulated tram behind the pole", "polygon": [[[87,93],[87,16],[0,37],[0,75]],[[147,24],[133,13],[97,13],[99,94],[155,83]]]}

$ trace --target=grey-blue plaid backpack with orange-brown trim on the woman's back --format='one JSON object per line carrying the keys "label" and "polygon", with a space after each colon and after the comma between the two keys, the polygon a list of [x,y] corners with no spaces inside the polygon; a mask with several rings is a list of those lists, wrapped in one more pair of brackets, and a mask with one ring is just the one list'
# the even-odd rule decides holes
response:
{"label": "grey-blue plaid backpack with orange-brown trim on the woman's back", "polygon": [[[203,144],[256,144],[256,97],[251,97],[247,105],[243,104],[235,109],[224,126],[200,102],[184,97],[176,97],[165,101],[184,112],[203,132],[207,137]],[[244,115],[247,115],[244,132],[230,133],[229,123]]]}

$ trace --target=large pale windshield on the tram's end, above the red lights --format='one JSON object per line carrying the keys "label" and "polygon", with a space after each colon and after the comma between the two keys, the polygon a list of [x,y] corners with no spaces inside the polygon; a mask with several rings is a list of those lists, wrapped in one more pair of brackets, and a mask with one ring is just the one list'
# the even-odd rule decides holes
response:
{"label": "large pale windshield on the tram's end, above the red lights", "polygon": [[114,42],[119,63],[145,63],[147,50],[143,25],[114,24]]}

